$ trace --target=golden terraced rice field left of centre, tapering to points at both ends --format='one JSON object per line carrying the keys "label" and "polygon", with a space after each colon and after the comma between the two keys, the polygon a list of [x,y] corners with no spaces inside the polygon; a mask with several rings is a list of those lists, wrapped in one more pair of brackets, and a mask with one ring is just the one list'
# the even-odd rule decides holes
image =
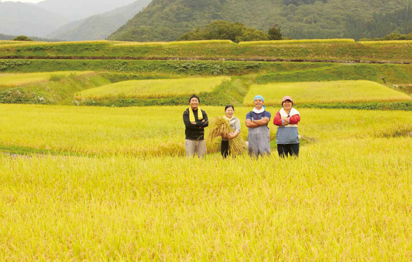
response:
{"label": "golden terraced rice field left of centre, tapering to points at both ends", "polygon": [[179,79],[130,80],[84,90],[76,96],[105,97],[122,95],[136,98],[159,98],[210,92],[230,77],[191,77]]}

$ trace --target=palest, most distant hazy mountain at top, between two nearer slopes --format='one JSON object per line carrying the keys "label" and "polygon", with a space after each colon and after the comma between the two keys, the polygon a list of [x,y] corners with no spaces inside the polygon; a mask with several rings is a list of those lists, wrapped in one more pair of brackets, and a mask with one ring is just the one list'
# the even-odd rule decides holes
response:
{"label": "palest, most distant hazy mountain at top, between two nearer slopes", "polygon": [[44,0],[34,4],[66,17],[69,21],[84,19],[131,4],[135,0]]}

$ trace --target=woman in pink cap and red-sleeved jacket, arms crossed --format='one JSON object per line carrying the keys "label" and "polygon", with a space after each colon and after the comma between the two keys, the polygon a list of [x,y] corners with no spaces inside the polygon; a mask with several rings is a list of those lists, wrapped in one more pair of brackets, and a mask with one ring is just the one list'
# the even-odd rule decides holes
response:
{"label": "woman in pink cap and red-sleeved jacket, arms crossed", "polygon": [[299,156],[298,123],[300,114],[293,108],[293,100],[290,96],[282,99],[282,108],[276,113],[273,123],[278,126],[276,143],[280,157]]}

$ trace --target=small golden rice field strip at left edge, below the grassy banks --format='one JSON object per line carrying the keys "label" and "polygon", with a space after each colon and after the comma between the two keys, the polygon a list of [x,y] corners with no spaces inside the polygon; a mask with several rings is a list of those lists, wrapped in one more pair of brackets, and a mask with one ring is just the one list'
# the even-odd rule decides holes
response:
{"label": "small golden rice field strip at left edge, below the grassy banks", "polygon": [[0,87],[16,87],[36,82],[43,82],[52,76],[68,76],[70,74],[89,74],[92,71],[56,71],[44,73],[0,73]]}

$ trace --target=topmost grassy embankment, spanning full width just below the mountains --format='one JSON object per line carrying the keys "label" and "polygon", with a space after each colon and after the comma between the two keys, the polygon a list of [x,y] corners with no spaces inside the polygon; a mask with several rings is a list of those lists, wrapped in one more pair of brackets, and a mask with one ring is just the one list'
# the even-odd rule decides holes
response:
{"label": "topmost grassy embankment, spanning full width just below the mountains", "polygon": [[[292,41],[293,42],[293,41]],[[209,42],[178,44],[119,44],[118,42],[73,42],[0,45],[0,56],[37,58],[196,58],[196,59],[270,59],[270,60],[344,60],[412,62],[412,44],[262,43],[242,44]]]}

